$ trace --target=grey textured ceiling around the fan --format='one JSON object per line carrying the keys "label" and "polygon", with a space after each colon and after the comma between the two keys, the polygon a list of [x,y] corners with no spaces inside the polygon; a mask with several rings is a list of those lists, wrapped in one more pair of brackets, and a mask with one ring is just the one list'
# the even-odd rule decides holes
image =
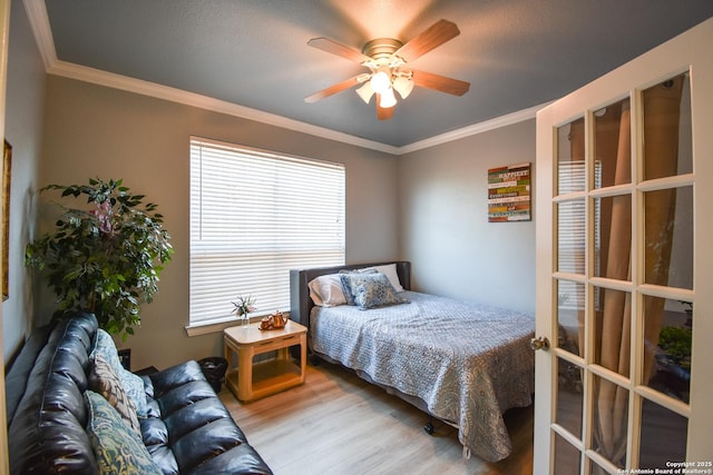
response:
{"label": "grey textured ceiling around the fan", "polygon": [[[557,99],[713,16],[713,0],[46,0],[57,59],[403,147]],[[439,19],[460,36],[413,62],[469,81],[416,88],[377,120],[348,90],[365,69],[311,48],[408,41]]]}

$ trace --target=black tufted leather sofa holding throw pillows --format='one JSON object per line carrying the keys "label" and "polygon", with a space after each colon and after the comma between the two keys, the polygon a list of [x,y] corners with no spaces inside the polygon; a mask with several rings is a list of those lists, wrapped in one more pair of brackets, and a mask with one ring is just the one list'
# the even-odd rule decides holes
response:
{"label": "black tufted leather sofa holding throw pillows", "polygon": [[[87,435],[97,319],[78,314],[35,330],[6,376],[11,474],[97,474]],[[196,362],[143,376],[143,442],[165,474],[271,474]],[[138,435],[136,435],[138,441]]]}

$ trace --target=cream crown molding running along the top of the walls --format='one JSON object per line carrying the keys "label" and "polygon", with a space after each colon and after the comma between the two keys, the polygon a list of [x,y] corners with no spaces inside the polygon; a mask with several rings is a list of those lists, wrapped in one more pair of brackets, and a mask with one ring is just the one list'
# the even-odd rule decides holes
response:
{"label": "cream crown molding running along the top of the walls", "polygon": [[328,129],[324,127],[318,127],[299,120],[289,119],[275,113],[270,113],[221,99],[215,99],[208,96],[188,92],[182,89],[163,86],[155,82],[134,79],[126,76],[116,75],[114,72],[107,72],[99,69],[61,61],[57,58],[57,51],[55,49],[55,41],[52,38],[52,31],[49,23],[49,17],[47,14],[45,0],[25,0],[25,8],[27,10],[30,26],[32,28],[32,33],[35,34],[35,40],[37,41],[48,75],[60,76],[78,81],[90,82],[98,86],[120,89],[124,91],[149,96],[157,99],[183,103],[186,106],[193,106],[214,112],[254,120],[256,122],[281,127],[287,130],[307,133],[311,136],[335,140],[343,144],[382,151],[395,156],[410,154],[412,151],[434,147],[442,144],[448,144],[450,141],[458,140],[465,137],[470,137],[488,130],[518,123],[524,120],[529,120],[535,117],[537,110],[546,106],[540,105],[531,107],[529,109],[508,113],[506,116],[501,116],[484,122],[473,123],[458,130],[441,133],[406,146],[394,147],[388,144],[367,140],[361,137],[339,132],[336,130]]}

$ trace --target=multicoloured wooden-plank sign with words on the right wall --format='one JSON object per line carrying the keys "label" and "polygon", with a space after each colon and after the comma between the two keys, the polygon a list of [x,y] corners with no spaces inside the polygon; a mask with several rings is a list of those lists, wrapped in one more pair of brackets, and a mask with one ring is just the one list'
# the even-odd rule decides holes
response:
{"label": "multicoloured wooden-plank sign with words on the right wall", "polygon": [[531,220],[530,164],[488,169],[488,222]]}

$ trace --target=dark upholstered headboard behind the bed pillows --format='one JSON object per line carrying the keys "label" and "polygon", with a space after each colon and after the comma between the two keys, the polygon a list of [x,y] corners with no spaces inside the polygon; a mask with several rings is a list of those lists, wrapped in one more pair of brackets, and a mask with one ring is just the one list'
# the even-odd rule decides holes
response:
{"label": "dark upholstered headboard behind the bed pillows", "polygon": [[401,286],[406,290],[411,289],[411,263],[407,260],[390,260],[387,263],[349,264],[335,267],[319,267],[313,269],[290,270],[290,319],[297,321],[305,327],[310,327],[310,311],[314,307],[310,298],[307,284],[315,277],[325,274],[336,274],[340,270],[361,269],[371,266],[383,266],[387,264],[397,265],[397,274]]}

